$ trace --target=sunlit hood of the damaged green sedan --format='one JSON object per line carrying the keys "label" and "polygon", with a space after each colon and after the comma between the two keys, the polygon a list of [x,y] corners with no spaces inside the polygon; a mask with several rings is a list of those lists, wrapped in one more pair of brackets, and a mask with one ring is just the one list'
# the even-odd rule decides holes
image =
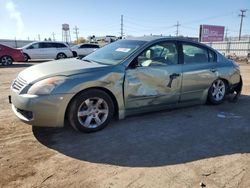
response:
{"label": "sunlit hood of the damaged green sedan", "polygon": [[51,76],[69,76],[97,71],[107,66],[71,58],[33,65],[20,72],[18,76],[27,83],[32,83]]}

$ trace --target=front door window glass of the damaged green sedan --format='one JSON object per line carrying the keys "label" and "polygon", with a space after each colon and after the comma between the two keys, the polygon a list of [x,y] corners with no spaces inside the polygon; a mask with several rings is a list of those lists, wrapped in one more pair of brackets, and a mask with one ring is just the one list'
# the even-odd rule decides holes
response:
{"label": "front door window glass of the damaged green sedan", "polygon": [[172,42],[151,46],[138,56],[139,66],[178,64],[177,47]]}

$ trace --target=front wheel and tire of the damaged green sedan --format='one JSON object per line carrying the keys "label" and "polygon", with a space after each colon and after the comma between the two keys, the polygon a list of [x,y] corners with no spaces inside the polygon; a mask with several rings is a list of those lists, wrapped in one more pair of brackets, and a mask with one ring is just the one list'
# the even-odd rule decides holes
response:
{"label": "front wheel and tire of the damaged green sedan", "polygon": [[67,116],[70,125],[81,132],[96,132],[106,127],[114,115],[111,97],[99,89],[78,94],[69,105]]}

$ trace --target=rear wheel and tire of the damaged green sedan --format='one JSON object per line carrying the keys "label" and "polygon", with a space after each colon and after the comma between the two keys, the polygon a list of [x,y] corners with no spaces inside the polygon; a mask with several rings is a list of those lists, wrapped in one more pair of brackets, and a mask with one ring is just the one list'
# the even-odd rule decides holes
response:
{"label": "rear wheel and tire of the damaged green sedan", "polygon": [[215,80],[208,90],[208,102],[221,104],[227,93],[227,83],[222,79]]}

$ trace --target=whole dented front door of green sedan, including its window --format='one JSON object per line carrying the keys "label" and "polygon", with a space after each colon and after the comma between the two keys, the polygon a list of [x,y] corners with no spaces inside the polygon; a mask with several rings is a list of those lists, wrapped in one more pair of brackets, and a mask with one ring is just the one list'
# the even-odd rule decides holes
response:
{"label": "whole dented front door of green sedan, including its window", "polygon": [[143,51],[125,74],[126,109],[176,104],[181,91],[181,64],[174,42],[161,42]]}

